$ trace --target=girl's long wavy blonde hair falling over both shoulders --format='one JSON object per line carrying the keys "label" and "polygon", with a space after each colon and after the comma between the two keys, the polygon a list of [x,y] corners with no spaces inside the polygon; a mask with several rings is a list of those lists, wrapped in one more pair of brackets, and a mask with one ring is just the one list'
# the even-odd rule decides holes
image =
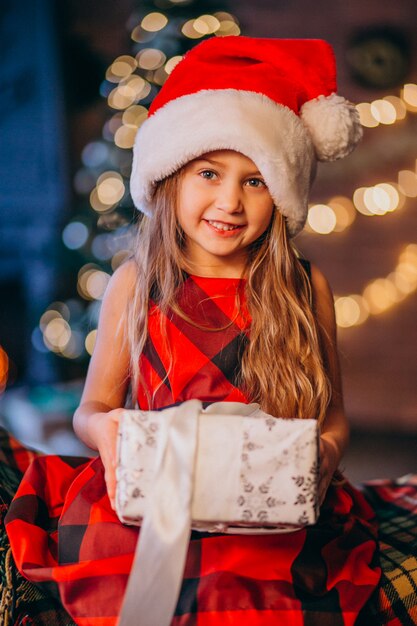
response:
{"label": "girl's long wavy blonde hair falling over both shoulders", "polygon": [[[163,313],[179,312],[176,294],[186,266],[176,219],[181,175],[179,171],[158,183],[153,217],[144,216],[138,228],[136,288],[128,310],[133,394],[142,380],[139,361],[148,338],[150,299],[157,300]],[[274,211],[266,233],[250,250],[245,292],[250,340],[241,360],[239,387],[249,401],[259,402],[272,415],[322,422],[331,389],[310,281],[279,211]],[[162,337],[164,319],[162,315]],[[149,402],[152,406],[152,398]]]}

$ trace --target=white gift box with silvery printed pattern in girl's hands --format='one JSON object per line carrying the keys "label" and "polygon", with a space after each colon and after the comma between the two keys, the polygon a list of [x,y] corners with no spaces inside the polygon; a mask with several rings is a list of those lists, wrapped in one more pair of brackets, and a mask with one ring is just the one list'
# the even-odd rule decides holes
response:
{"label": "white gift box with silvery printed pattern in girl's hands", "polygon": [[[186,419],[190,430],[176,432]],[[176,514],[174,491],[188,489],[197,530],[282,532],[317,520],[316,420],[272,417],[256,404],[202,409],[197,400],[162,411],[124,411],[116,470],[122,522],[141,524],[167,454],[160,497]]]}

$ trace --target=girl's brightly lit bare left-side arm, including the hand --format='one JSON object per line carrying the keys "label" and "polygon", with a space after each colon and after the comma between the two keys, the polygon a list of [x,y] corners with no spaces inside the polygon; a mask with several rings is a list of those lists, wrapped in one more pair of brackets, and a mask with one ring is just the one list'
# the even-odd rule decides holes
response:
{"label": "girl's brightly lit bare left-side arm, including the hand", "polygon": [[135,264],[119,267],[107,286],[74,430],[104,464],[110,500],[115,493],[116,440],[119,416],[129,384],[126,307],[134,289]]}

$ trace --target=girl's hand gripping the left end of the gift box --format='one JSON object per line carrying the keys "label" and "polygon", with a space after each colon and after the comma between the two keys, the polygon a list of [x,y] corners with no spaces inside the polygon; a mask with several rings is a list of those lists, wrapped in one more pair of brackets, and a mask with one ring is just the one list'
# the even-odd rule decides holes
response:
{"label": "girl's hand gripping the left end of the gift box", "polygon": [[94,413],[89,420],[89,434],[96,443],[104,465],[104,479],[112,509],[115,509],[117,430],[120,414],[124,409],[112,409],[106,413]]}

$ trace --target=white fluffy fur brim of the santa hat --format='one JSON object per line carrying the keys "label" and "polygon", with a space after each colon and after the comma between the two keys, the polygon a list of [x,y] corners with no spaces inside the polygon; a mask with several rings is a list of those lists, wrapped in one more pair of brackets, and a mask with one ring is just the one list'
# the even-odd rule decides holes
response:
{"label": "white fluffy fur brim of the santa hat", "polygon": [[235,150],[249,157],[286,217],[290,234],[303,228],[316,166],[309,132],[287,107],[236,89],[176,98],[142,124],[130,183],[136,207],[149,215],[155,183],[214,150]]}

